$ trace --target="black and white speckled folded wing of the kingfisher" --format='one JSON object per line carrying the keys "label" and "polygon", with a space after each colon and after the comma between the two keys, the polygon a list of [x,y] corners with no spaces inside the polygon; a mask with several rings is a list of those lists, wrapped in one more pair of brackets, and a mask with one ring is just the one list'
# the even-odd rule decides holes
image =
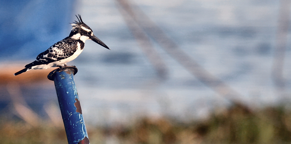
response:
{"label": "black and white speckled folded wing of the kingfisher", "polygon": [[77,50],[78,41],[73,39],[64,39],[52,45],[46,51],[40,53],[36,57],[36,61],[25,65],[25,68],[30,68],[35,65],[48,64],[55,61],[60,61],[72,56]]}

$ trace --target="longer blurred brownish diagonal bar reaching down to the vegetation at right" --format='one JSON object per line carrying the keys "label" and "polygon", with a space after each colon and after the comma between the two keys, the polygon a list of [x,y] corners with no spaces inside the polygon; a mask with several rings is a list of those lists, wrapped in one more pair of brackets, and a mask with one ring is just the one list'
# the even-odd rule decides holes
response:
{"label": "longer blurred brownish diagonal bar reaching down to the vegetation at right", "polygon": [[205,70],[196,61],[191,59],[181,48],[171,40],[152,20],[149,19],[139,8],[130,6],[127,0],[116,0],[120,6],[134,19],[134,21],[176,61],[196,76],[202,83],[212,88],[219,95],[231,100],[233,103],[244,105],[239,102],[242,97],[238,92],[226,85],[223,81]]}

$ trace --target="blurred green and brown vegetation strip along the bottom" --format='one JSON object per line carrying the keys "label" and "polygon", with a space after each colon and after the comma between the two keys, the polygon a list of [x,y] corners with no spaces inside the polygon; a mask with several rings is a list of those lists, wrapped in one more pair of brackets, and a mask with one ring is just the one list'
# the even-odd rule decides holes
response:
{"label": "blurred green and brown vegetation strip along the bottom", "polygon": [[[45,122],[33,127],[1,119],[0,130],[3,144],[67,143],[63,127]],[[291,111],[284,107],[251,111],[234,105],[201,121],[141,118],[129,126],[87,125],[87,130],[91,144],[291,143]]]}

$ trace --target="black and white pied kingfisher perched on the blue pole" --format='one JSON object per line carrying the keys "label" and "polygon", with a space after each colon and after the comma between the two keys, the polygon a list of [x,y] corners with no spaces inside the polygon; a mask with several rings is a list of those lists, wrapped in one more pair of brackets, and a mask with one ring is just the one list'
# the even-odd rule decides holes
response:
{"label": "black and white pied kingfisher perched on the blue pole", "polygon": [[83,22],[80,14],[78,14],[79,17],[77,15],[75,16],[78,21],[70,23],[72,25],[72,30],[68,37],[40,53],[35,61],[25,65],[25,68],[16,72],[14,76],[31,69],[47,69],[51,67],[63,68],[67,66],[66,63],[74,60],[83,51],[87,39],[109,49],[105,43],[93,34],[92,29]]}

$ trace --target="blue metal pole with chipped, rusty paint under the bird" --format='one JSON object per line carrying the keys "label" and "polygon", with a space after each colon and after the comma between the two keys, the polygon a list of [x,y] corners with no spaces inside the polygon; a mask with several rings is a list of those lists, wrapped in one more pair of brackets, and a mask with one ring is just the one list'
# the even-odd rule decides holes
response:
{"label": "blue metal pole with chipped, rusty paint under the bird", "polygon": [[76,67],[58,68],[49,73],[49,80],[54,81],[58,103],[69,144],[89,144],[78,92],[74,82]]}

